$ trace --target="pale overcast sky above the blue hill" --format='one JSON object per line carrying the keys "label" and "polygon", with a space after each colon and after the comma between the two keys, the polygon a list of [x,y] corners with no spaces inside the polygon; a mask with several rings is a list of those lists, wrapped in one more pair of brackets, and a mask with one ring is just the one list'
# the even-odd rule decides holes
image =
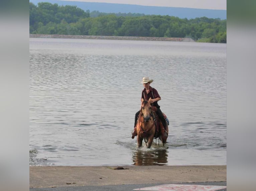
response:
{"label": "pale overcast sky above the blue hill", "polygon": [[120,3],[160,7],[187,7],[227,10],[227,0],[66,0],[101,3]]}

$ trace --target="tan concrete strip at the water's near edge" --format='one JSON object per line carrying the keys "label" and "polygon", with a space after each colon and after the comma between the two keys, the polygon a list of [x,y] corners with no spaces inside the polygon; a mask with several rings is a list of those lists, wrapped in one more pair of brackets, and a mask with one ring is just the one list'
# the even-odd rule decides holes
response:
{"label": "tan concrete strip at the water's near edge", "polygon": [[29,167],[30,188],[225,181],[227,165]]}

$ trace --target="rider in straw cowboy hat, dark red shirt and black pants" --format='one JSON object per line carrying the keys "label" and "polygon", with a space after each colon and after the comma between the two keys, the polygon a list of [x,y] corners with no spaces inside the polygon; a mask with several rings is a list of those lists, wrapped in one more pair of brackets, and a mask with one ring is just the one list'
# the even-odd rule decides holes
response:
{"label": "rider in straw cowboy hat, dark red shirt and black pants", "polygon": [[[153,82],[153,80],[149,80],[149,77],[144,77],[142,79],[142,84],[143,86],[145,87],[143,90],[142,90],[142,93],[141,93],[141,101],[142,100],[149,100],[150,99],[150,104],[152,106],[155,106],[156,107],[156,111],[155,113],[158,115],[158,118],[161,120],[162,122],[162,125],[163,125],[163,128],[164,130],[161,131],[162,133],[162,136],[164,137],[167,137],[167,132],[166,132],[166,120],[163,116],[163,113],[160,109],[160,106],[158,105],[157,101],[161,100],[161,97],[160,95],[158,94],[157,90],[155,88],[152,88],[150,86],[150,84]],[[140,111],[138,111],[136,114],[135,114],[135,122],[134,122],[134,129],[132,131],[132,139],[137,136],[137,129],[136,129],[136,123],[137,123],[137,119],[138,119],[138,115],[139,115]]]}

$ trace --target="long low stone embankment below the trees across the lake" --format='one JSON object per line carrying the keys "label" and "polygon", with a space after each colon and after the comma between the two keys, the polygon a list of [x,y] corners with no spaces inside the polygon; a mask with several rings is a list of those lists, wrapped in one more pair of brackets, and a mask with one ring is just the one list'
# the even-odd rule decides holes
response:
{"label": "long low stone embankment below the trees across the lake", "polygon": [[29,34],[29,38],[58,38],[58,39],[97,39],[97,40],[134,40],[134,41],[175,41],[195,42],[191,38],[169,37],[121,37],[121,36],[89,36],[89,35],[43,35]]}

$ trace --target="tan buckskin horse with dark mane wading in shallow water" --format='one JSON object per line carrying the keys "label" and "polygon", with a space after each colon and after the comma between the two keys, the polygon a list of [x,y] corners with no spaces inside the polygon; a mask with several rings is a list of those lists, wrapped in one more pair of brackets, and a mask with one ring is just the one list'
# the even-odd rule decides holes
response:
{"label": "tan buckskin horse with dark mane wading in shallow water", "polygon": [[148,101],[144,100],[142,98],[141,102],[141,108],[140,113],[138,116],[136,129],[137,129],[137,147],[142,146],[142,141],[144,139],[147,148],[150,148],[153,142],[154,138],[160,138],[160,140],[163,143],[166,143],[166,139],[168,137],[168,126],[166,124],[166,132],[167,136],[164,136],[163,133],[161,133],[161,130],[164,130],[163,125],[160,120],[158,120],[159,127],[161,130],[158,130],[157,123],[154,119],[157,118],[155,112],[153,111],[154,108],[150,104],[150,99]]}

